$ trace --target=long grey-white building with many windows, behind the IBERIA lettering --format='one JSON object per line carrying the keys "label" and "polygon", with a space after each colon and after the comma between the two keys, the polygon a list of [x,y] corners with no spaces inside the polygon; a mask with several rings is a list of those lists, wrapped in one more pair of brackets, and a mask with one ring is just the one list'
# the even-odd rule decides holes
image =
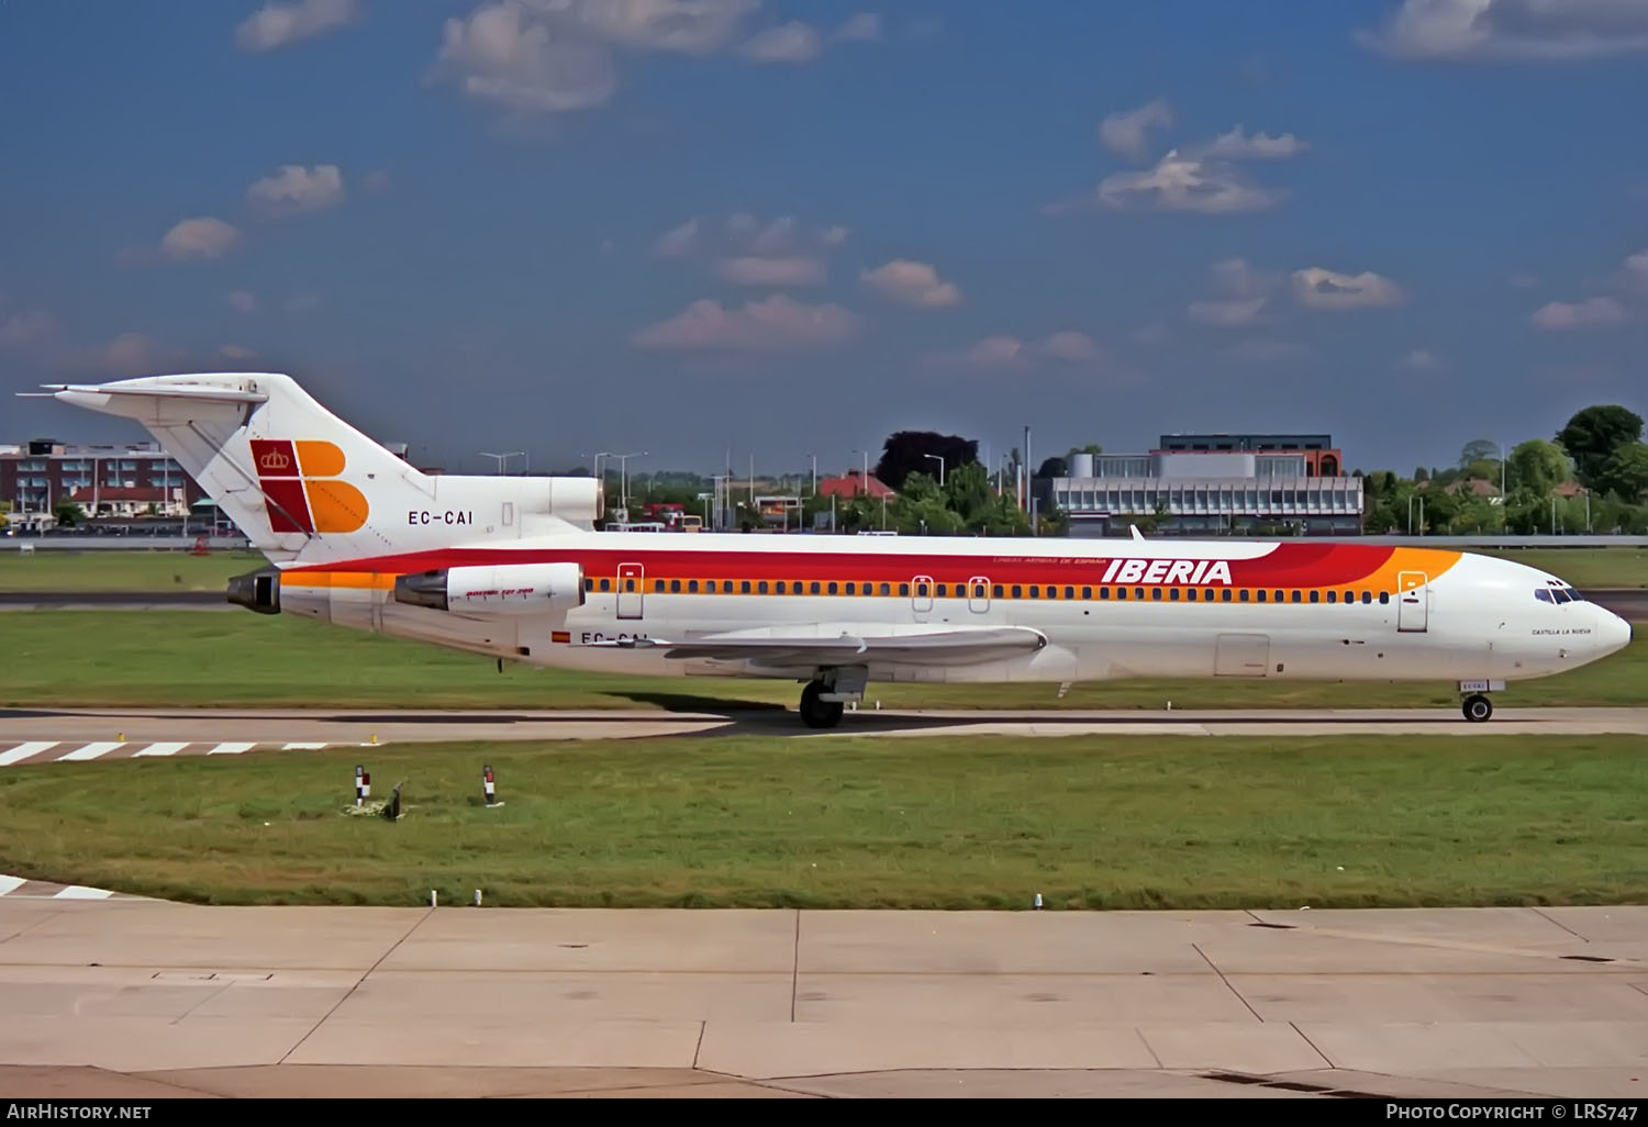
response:
{"label": "long grey-white building with many windows, behind the IBERIA lettering", "polygon": [[1073,455],[1048,498],[1071,535],[1159,532],[1360,534],[1361,478],[1330,435],[1162,435],[1147,453]]}

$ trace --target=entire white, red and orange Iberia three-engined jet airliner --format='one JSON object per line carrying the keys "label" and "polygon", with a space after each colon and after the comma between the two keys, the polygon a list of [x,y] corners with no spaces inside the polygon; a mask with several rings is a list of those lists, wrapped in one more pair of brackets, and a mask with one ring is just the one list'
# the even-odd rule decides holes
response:
{"label": "entire white, red and orange Iberia three-engined jet airliner", "polygon": [[1630,643],[1554,575],[1285,540],[597,532],[595,478],[425,475],[282,374],[46,394],[142,423],[264,552],[232,603],[536,666],[804,684],[1437,680],[1488,694]]}

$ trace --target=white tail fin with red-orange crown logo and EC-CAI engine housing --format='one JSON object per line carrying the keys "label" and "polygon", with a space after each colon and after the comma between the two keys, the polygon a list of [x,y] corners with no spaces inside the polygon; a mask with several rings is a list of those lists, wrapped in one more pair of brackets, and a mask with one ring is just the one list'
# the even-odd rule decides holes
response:
{"label": "white tail fin with red-orange crown logo and EC-CAI engine housing", "polygon": [[[592,527],[593,478],[427,475],[282,374],[54,386],[142,423],[274,562],[321,564]],[[559,507],[559,512],[557,512]]]}

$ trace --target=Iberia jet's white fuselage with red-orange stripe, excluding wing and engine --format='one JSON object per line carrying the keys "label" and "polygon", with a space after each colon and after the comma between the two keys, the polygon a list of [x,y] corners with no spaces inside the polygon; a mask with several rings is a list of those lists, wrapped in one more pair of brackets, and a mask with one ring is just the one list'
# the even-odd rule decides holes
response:
{"label": "Iberia jet's white fuselage with red-orange stripe, excluding wing and engine", "polygon": [[[397,572],[544,560],[583,568],[582,605],[466,616],[392,598]],[[344,626],[623,674],[794,679],[796,669],[682,661],[618,639],[1020,626],[1046,644],[989,661],[868,661],[868,679],[1468,682],[1564,672],[1630,641],[1605,608],[1549,595],[1569,590],[1491,557],[1312,540],[577,532],[288,568],[280,598],[283,610]]]}

